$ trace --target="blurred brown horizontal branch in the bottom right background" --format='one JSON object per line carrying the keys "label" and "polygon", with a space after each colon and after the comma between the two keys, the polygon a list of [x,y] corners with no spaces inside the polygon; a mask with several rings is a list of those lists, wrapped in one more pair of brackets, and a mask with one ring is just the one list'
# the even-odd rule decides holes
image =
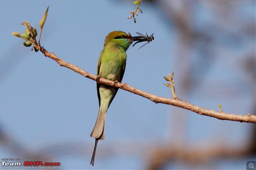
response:
{"label": "blurred brown horizontal branch in the bottom right background", "polygon": [[255,152],[249,146],[211,145],[208,142],[197,147],[191,145],[155,147],[148,155],[147,169],[164,169],[166,164],[171,165],[175,161],[183,161],[192,169],[193,166],[195,169],[198,168],[199,162],[200,165],[205,165],[209,169],[216,169],[216,165],[211,161],[213,159],[241,158],[255,155]]}

